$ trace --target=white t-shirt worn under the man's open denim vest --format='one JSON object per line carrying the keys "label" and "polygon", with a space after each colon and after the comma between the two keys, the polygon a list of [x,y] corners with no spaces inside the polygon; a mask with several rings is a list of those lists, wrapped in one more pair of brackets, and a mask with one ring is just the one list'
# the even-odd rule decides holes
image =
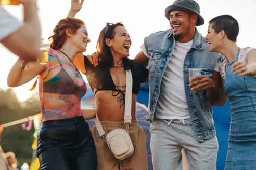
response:
{"label": "white t-shirt worn under the man's open denim vest", "polygon": [[[190,118],[184,87],[183,66],[186,54],[192,45],[193,40],[188,43],[180,43],[175,40],[172,57],[161,81],[160,95],[156,105],[155,117],[157,119]],[[145,45],[143,44],[140,48],[148,56]]]}

